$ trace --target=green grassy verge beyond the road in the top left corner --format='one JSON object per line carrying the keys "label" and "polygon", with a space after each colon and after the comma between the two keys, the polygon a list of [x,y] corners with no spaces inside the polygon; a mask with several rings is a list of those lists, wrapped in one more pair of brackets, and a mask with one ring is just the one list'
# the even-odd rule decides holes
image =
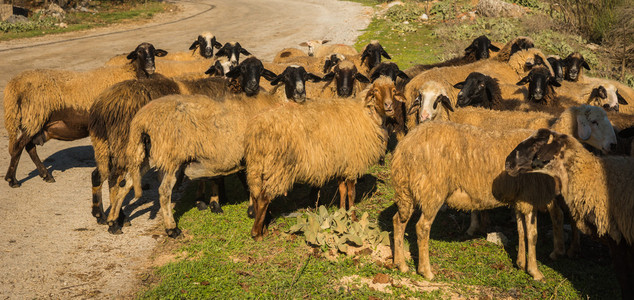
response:
{"label": "green grassy verge beyond the road in the top left corner", "polygon": [[[147,3],[130,1],[131,3],[118,5],[110,1],[97,2],[99,3],[97,13],[68,12],[66,18],[61,21],[68,25],[66,28],[55,26],[54,24],[60,21],[52,19],[37,22],[38,16],[34,16],[28,25],[14,26],[11,29],[6,29],[6,31],[0,30],[0,41],[86,30],[116,23],[149,20],[159,12],[174,9],[172,4],[156,1],[148,1]],[[37,25],[33,25],[33,23],[37,23]],[[4,27],[0,26],[0,28]]]}

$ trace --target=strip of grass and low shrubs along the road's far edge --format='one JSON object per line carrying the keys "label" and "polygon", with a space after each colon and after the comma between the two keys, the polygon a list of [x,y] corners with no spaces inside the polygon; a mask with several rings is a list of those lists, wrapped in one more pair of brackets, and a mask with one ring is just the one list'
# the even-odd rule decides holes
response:
{"label": "strip of grass and low shrubs along the road's far edge", "polygon": [[[18,2],[18,1],[16,1]],[[177,6],[156,0],[87,1],[82,10],[66,9],[52,15],[43,3],[28,1],[31,15],[19,22],[0,22],[0,41],[104,27],[119,23],[144,22],[157,13],[173,12]],[[43,2],[43,1],[40,1]],[[16,3],[17,5],[17,3]]]}

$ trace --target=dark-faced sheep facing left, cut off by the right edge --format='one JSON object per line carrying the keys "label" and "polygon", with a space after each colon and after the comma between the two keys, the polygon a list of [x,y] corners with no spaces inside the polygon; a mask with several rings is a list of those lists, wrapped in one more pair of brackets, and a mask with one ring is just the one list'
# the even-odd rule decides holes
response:
{"label": "dark-faced sheep facing left, cut off by the right edge", "polygon": [[512,176],[552,176],[577,227],[608,242],[621,297],[634,298],[634,158],[596,157],[566,134],[540,129],[508,154]]}

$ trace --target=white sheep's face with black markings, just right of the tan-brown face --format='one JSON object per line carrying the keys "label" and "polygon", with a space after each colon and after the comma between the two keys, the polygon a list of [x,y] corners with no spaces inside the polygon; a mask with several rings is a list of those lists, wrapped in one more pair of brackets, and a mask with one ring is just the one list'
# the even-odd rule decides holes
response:
{"label": "white sheep's face with black markings, just right of the tan-brown face", "polygon": [[430,81],[418,91],[414,102],[407,109],[407,114],[416,114],[416,123],[419,124],[435,119],[441,109],[453,111],[451,101],[445,90],[438,88],[438,83]]}

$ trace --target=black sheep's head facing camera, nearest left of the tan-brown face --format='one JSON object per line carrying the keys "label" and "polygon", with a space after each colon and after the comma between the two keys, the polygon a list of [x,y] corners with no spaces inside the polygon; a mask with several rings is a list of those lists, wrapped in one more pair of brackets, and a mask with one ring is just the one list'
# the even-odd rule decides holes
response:
{"label": "black sheep's head facing camera, nearest left of the tan-brown face", "polygon": [[[314,89],[316,90],[315,94],[325,98],[335,95],[342,98],[354,97],[358,91],[363,90],[365,83],[370,82],[367,77],[357,71],[357,67],[349,60],[338,63],[330,73],[324,75],[322,80],[325,85]],[[332,87],[333,80],[335,81],[334,88]]]}

